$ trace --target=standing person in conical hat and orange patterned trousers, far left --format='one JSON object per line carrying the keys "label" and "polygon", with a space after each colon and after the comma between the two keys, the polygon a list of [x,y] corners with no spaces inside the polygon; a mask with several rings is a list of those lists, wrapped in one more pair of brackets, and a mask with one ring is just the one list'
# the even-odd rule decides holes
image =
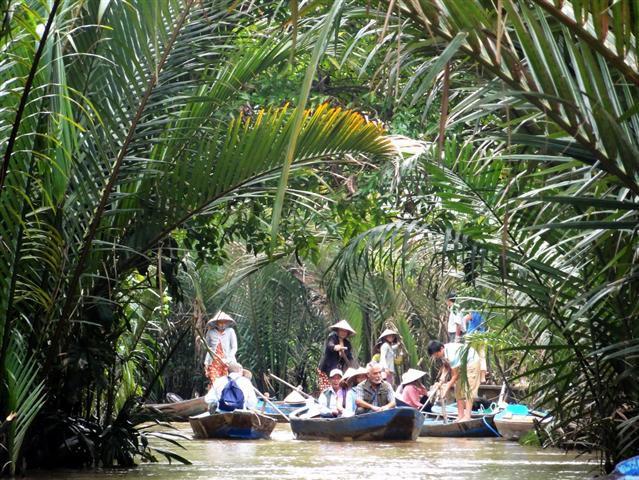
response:
{"label": "standing person in conical hat and orange patterned trousers, far left", "polygon": [[228,374],[227,364],[235,362],[237,352],[237,336],[231,328],[235,320],[230,315],[220,311],[206,323],[206,345],[208,351],[204,360],[206,376],[209,379],[209,389],[219,377]]}

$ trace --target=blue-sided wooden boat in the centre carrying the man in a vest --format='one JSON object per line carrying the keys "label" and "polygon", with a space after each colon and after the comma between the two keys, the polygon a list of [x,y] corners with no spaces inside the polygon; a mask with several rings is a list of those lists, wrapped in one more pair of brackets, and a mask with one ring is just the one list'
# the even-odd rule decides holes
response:
{"label": "blue-sided wooden boat in the centre carrying the man in a vest", "polygon": [[291,430],[299,440],[416,440],[424,416],[414,408],[393,408],[345,418],[303,418],[308,408],[291,414]]}

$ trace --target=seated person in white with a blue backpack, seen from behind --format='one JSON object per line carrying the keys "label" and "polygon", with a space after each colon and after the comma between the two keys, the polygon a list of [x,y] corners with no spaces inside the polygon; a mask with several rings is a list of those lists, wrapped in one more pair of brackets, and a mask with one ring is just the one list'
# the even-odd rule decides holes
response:
{"label": "seated person in white with a blue backpack, seen from behind", "polygon": [[[228,375],[215,380],[213,387],[204,397],[204,400],[209,405],[209,412],[255,409],[257,407],[255,389],[251,381],[244,376],[242,365],[237,362],[230,362],[228,371]],[[239,389],[239,392],[237,389]]]}

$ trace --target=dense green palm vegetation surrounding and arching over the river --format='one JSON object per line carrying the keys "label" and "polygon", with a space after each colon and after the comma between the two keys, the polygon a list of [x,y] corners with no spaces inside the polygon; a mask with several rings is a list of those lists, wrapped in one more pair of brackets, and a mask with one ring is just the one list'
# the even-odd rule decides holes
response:
{"label": "dense green palm vegetation surrounding and arching over the river", "polygon": [[362,361],[392,324],[428,366],[451,289],[546,445],[639,452],[636,2],[0,16],[5,473],[181,459],[140,405],[204,391],[217,309],[246,367],[312,390],[336,318]]}

